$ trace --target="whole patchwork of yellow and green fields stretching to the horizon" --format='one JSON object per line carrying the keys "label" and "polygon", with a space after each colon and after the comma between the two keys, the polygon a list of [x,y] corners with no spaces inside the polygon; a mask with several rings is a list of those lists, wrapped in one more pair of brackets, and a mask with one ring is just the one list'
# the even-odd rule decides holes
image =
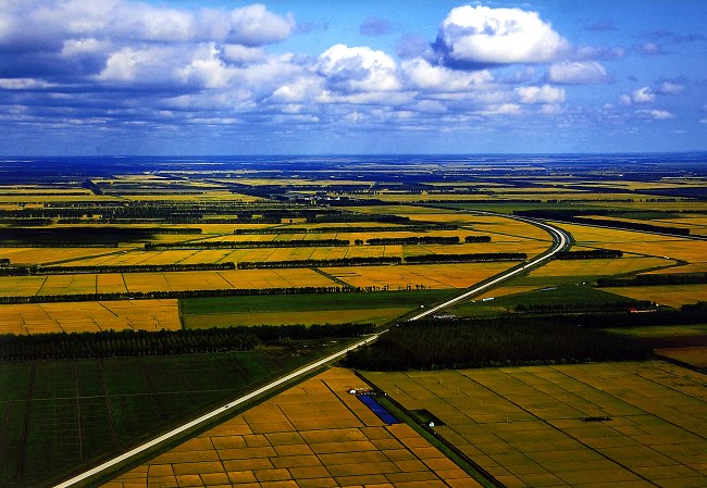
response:
{"label": "whole patchwork of yellow and green fields stretching to the horizon", "polygon": [[[33,173],[26,185],[0,184],[0,297],[27,301],[0,304],[0,335],[401,323],[413,311],[460,295],[522,260],[350,266],[322,261],[472,253],[525,253],[531,259],[550,247],[551,237],[508,217],[523,211],[549,212],[538,217],[547,222],[563,220],[566,212],[707,235],[707,210],[699,197],[707,182],[699,173],[703,162],[681,178],[674,172],[683,172],[682,166],[653,161],[650,167],[660,166],[670,176],[618,163],[623,165],[620,171],[603,165],[596,177],[596,162],[562,166],[541,159],[498,161],[493,166],[463,159],[395,164],[367,160],[356,163],[360,166],[348,159],[307,161],[301,167],[289,161],[270,163],[272,167],[250,161],[189,166],[115,161],[115,167],[101,170],[100,176],[85,168],[62,176],[58,173],[64,168],[54,165],[61,172],[42,168],[49,173]],[[24,163],[13,167],[18,174],[25,171]],[[672,190],[679,191],[670,195]],[[553,313],[574,320],[575,312],[605,320],[607,310],[616,317],[634,305],[650,309],[636,300],[679,308],[707,298],[707,285],[700,283],[595,286],[601,277],[645,273],[693,273],[689,278],[698,281],[696,274],[707,272],[705,240],[555,225],[572,234],[573,250],[621,250],[623,256],[550,261],[439,315],[501,315],[495,323],[505,321],[508,329],[512,318],[507,313],[535,314],[538,322]],[[491,240],[466,242],[468,236]],[[460,243],[442,240],[450,237]],[[367,243],[381,238],[436,238],[436,243]],[[322,242],[302,247],[314,240]],[[181,242],[184,246],[174,246]],[[322,267],[224,265],[305,260]],[[202,264],[211,270],[188,267]],[[342,287],[362,292],[333,292]],[[303,288],[321,288],[321,293],[233,293]],[[154,291],[183,298],[99,297]],[[204,293],[184,298],[187,293],[181,291]],[[92,301],[62,301],[75,295]],[[432,323],[449,325],[443,320]],[[658,329],[668,328],[674,335],[704,336],[704,325],[695,323],[644,328],[652,331],[635,335],[646,339],[655,333],[647,338],[654,341]],[[441,336],[441,329],[435,330]],[[466,331],[444,343],[461,343]],[[225,337],[233,331],[214,333]],[[532,334],[537,336],[537,328]],[[634,331],[624,327],[617,334]],[[44,355],[37,358],[52,358],[60,341],[72,340],[70,334],[5,339],[46,339]],[[160,350],[165,355],[0,363],[0,486],[51,484],[345,341],[262,340],[259,349],[238,353],[213,352],[224,350],[214,347],[202,354],[168,355]],[[511,340],[530,342],[519,342],[518,336]],[[612,347],[604,351],[621,350],[616,337],[607,340]],[[557,340],[543,350],[554,343]],[[509,364],[504,361],[511,358],[511,348],[499,349],[503,355],[491,364]],[[408,349],[399,351],[415,356]],[[693,348],[667,355],[690,358],[699,367],[704,351]],[[707,486],[707,381],[694,371],[650,361],[365,375],[406,409],[424,410],[443,421],[436,433],[509,488]],[[350,371],[328,370],[178,446],[164,447],[152,459],[136,460],[127,472],[114,473],[104,488],[480,486],[412,427],[386,425],[347,392],[359,387],[365,381]]]}

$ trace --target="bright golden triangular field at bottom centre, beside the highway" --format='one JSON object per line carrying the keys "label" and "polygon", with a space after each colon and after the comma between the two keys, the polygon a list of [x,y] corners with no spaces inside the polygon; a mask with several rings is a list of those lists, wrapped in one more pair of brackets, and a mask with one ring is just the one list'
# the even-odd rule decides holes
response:
{"label": "bright golden triangular field at bottom centre, beside the highway", "polygon": [[386,425],[326,371],[152,458],[102,488],[481,487],[405,424]]}

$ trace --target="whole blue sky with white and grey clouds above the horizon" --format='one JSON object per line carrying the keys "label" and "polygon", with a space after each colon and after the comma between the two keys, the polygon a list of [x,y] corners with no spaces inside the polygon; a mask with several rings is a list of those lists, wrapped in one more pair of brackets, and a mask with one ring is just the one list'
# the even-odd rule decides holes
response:
{"label": "whole blue sky with white and grey clouds above the horizon", "polygon": [[707,149],[704,0],[0,0],[1,155]]}

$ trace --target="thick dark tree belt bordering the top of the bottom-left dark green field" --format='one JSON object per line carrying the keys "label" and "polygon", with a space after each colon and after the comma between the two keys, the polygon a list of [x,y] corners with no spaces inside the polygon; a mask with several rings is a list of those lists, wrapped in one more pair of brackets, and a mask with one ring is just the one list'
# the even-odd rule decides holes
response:
{"label": "thick dark tree belt bordering the top of the bottom-left dark green field", "polygon": [[261,341],[360,337],[371,324],[0,335],[0,361],[250,351]]}

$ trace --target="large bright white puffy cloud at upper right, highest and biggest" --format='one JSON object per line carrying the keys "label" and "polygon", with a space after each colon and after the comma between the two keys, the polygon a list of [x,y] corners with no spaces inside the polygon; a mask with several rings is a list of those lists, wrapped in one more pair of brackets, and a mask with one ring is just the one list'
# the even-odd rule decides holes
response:
{"label": "large bright white puffy cloud at upper right, highest and biggest", "polygon": [[436,49],[449,64],[474,67],[550,62],[569,42],[537,12],[464,5],[443,21]]}

